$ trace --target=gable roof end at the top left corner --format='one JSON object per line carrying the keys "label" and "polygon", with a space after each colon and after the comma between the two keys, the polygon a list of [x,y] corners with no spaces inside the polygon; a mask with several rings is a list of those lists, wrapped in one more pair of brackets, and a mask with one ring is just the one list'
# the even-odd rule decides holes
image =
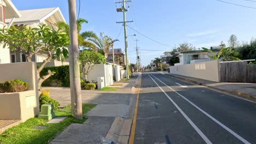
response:
{"label": "gable roof end at the top left corner", "polygon": [[13,17],[18,18],[21,17],[18,9],[14,6],[14,4],[10,0],[4,0],[6,8],[4,9],[4,17],[5,19],[12,19]]}

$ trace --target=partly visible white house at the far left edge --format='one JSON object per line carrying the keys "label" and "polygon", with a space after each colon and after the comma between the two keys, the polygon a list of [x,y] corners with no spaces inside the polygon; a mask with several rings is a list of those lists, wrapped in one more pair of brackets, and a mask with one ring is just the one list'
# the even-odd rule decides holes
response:
{"label": "partly visible white house at the far left edge", "polygon": [[[11,22],[19,17],[21,17],[21,14],[10,0],[0,0],[0,28],[4,26],[10,27]],[[10,25],[7,25],[5,22],[6,19],[10,20]],[[10,63],[10,51],[8,47],[3,48],[3,44],[0,45],[0,64],[1,63]]]}

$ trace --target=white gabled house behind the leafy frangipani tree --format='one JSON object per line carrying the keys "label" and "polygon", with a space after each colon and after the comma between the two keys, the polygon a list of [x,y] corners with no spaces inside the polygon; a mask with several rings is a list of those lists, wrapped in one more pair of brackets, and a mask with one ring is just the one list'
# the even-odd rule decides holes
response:
{"label": "white gabled house behind the leafy frangipani tree", "polygon": [[[40,25],[47,25],[53,30],[57,30],[56,23],[59,21],[66,22],[60,9],[56,8],[43,8],[43,9],[29,9],[29,10],[19,10],[19,13],[22,15],[18,19],[15,19],[13,25],[20,26],[28,26],[28,27],[38,27]],[[6,23],[11,22],[11,19],[7,19]],[[44,59],[47,58],[47,53],[44,51],[40,51],[39,54],[36,54],[32,57],[33,62],[42,63]],[[18,51],[10,52],[11,63],[15,62],[26,62],[26,56],[23,53]],[[68,61],[60,62],[56,61],[56,59],[52,60],[47,64],[47,66],[59,66],[59,65],[67,65]]]}

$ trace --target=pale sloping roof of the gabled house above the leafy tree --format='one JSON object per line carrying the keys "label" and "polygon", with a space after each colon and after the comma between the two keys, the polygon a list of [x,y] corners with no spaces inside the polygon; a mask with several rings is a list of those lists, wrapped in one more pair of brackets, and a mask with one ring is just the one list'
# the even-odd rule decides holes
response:
{"label": "pale sloping roof of the gabled house above the leafy tree", "polygon": [[[60,11],[59,7],[55,8],[42,8],[42,9],[28,9],[28,10],[19,10],[19,13],[22,15],[20,18],[15,19],[14,23],[40,23],[46,20],[51,15],[57,13],[58,19],[64,21],[65,19]],[[11,19],[5,20],[6,23],[9,23]]]}

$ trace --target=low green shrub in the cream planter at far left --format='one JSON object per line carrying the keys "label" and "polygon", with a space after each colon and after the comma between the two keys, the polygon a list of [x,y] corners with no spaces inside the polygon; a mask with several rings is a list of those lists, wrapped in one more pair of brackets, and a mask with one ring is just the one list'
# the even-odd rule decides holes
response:
{"label": "low green shrub in the cream planter at far left", "polygon": [[0,93],[23,92],[28,88],[28,83],[20,79],[0,83]]}

